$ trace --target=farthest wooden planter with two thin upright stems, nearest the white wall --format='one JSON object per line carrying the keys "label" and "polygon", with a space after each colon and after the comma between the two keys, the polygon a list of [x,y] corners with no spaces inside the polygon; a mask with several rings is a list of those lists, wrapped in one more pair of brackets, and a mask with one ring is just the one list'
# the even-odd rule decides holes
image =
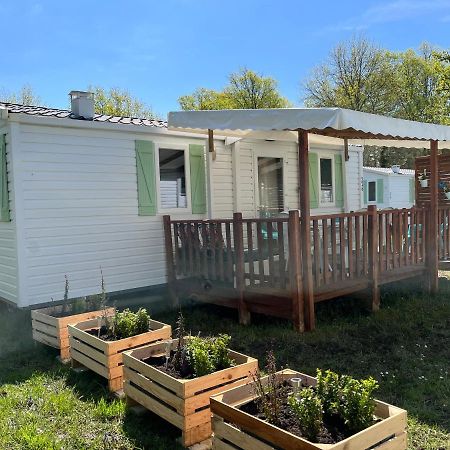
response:
{"label": "farthest wooden planter with two thin upright stems, nearest the white wall", "polygon": [[64,303],[31,311],[33,339],[59,349],[61,361],[67,361],[70,358],[67,326],[101,315],[114,314],[114,308],[106,306],[103,277],[101,285],[101,294],[79,298],[69,303],[69,280],[65,276]]}

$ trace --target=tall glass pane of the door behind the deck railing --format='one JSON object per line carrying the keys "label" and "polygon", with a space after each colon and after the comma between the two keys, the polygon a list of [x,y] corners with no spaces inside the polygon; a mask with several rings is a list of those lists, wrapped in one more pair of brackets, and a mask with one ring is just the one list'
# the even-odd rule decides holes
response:
{"label": "tall glass pane of the door behind the deck railing", "polygon": [[258,157],[259,206],[262,214],[276,215],[284,208],[283,159]]}

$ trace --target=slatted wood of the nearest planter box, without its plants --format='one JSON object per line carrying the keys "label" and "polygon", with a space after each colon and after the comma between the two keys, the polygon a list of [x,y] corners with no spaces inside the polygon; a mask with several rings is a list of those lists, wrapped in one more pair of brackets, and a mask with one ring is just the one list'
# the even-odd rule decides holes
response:
{"label": "slatted wood of the nearest planter box, without its plants", "polygon": [[[278,372],[280,380],[302,378],[314,386],[316,379],[293,370]],[[267,380],[267,377],[264,378]],[[314,444],[238,409],[255,398],[253,382],[211,397],[213,448],[216,450],[404,450],[406,411],[376,400],[375,415],[380,419],[336,444]]]}

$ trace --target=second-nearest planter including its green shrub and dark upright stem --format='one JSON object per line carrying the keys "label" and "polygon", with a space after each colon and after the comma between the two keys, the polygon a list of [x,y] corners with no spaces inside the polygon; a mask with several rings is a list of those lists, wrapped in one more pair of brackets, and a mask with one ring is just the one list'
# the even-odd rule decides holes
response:
{"label": "second-nearest planter including its green shrub and dark upright stem", "polygon": [[185,336],[125,352],[124,392],[182,431],[183,445],[211,436],[209,397],[249,381],[256,359],[228,348],[230,337]]}

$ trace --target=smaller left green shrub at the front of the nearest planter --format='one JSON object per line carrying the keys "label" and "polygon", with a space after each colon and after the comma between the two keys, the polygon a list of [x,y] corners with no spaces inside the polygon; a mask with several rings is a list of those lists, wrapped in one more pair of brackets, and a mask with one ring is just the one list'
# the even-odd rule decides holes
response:
{"label": "smaller left green shrub at the front of the nearest planter", "polygon": [[302,433],[310,441],[316,441],[323,425],[323,405],[317,392],[311,388],[301,389],[288,399]]}

